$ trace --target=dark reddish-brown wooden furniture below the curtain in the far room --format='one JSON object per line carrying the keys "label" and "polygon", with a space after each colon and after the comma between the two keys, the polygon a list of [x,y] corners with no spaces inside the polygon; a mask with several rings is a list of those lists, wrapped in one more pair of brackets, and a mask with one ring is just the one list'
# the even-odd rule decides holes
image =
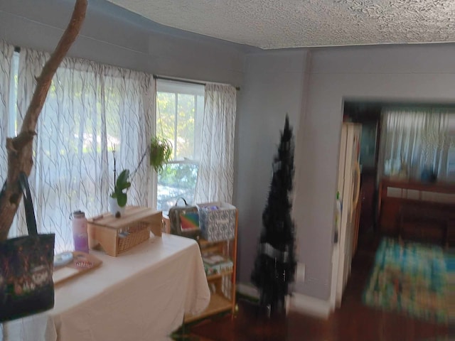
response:
{"label": "dark reddish-brown wooden furniture below the curtain in the far room", "polygon": [[455,243],[455,184],[382,179],[378,198],[382,234]]}

